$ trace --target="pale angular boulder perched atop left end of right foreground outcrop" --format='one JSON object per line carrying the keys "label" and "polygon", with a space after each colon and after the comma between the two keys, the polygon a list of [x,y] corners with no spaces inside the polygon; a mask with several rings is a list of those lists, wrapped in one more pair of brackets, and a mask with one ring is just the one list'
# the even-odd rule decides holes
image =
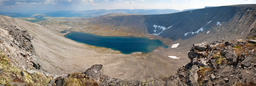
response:
{"label": "pale angular boulder perched atop left end of right foreground outcrop", "polygon": [[207,46],[208,46],[208,42],[201,42],[201,43],[193,44],[193,47],[191,48],[191,50],[198,50],[202,52],[202,51],[206,51]]}

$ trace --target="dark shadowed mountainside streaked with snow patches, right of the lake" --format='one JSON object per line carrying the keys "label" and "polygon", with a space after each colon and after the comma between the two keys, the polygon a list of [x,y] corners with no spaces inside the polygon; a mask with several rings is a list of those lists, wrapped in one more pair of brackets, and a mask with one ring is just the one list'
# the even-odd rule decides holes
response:
{"label": "dark shadowed mountainside streaked with snow patches, right of the lake", "polygon": [[[148,15],[145,16],[145,23],[150,34],[158,34],[172,40],[188,39],[198,33],[206,34],[206,31],[233,38],[232,35],[247,36],[255,32],[255,11],[255,5],[210,7],[172,14]],[[220,31],[223,33],[220,34]]]}

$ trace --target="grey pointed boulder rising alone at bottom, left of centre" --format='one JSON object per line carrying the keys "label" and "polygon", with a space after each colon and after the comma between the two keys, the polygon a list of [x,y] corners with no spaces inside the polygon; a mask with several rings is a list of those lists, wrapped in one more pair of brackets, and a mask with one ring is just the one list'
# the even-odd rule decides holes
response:
{"label": "grey pointed boulder rising alone at bottom, left of centre", "polygon": [[103,65],[102,64],[92,65],[92,67],[87,69],[84,73],[88,77],[91,77],[95,81],[99,82],[100,77],[102,77],[103,75]]}

